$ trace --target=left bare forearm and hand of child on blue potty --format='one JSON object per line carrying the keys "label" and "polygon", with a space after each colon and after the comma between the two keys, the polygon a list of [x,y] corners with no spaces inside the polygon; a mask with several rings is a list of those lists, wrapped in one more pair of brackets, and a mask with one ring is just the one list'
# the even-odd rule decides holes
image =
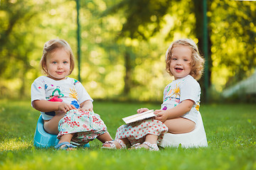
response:
{"label": "left bare forearm and hand of child on blue potty", "polygon": [[33,108],[41,112],[50,112],[50,111],[63,111],[67,113],[72,109],[76,109],[75,106],[64,103],[64,102],[51,102],[44,100],[36,100],[32,102]]}

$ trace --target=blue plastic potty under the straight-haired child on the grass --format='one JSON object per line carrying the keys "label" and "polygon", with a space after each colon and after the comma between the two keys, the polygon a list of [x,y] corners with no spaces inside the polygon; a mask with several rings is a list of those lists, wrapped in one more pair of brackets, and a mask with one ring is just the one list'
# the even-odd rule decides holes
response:
{"label": "blue plastic potty under the straight-haired child on the grass", "polygon": [[[57,135],[50,134],[46,132],[43,128],[43,118],[42,115],[38,118],[38,123],[36,125],[36,131],[34,135],[34,146],[47,148],[54,147],[57,145],[59,140],[57,139]],[[75,144],[73,144],[75,145]],[[89,143],[83,145],[83,147],[90,147]]]}

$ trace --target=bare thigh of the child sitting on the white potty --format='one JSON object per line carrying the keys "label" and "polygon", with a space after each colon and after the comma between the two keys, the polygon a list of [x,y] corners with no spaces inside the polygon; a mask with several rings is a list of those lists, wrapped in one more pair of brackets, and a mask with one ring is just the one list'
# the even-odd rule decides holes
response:
{"label": "bare thigh of the child sitting on the white potty", "polygon": [[191,132],[196,127],[196,123],[186,118],[169,119],[164,124],[169,128],[168,132],[176,134]]}

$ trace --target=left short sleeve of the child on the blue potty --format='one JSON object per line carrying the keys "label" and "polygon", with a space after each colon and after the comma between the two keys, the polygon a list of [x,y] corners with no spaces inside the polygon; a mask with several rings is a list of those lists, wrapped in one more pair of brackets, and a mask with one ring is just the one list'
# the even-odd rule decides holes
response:
{"label": "left short sleeve of the child on the blue potty", "polygon": [[38,77],[31,85],[31,102],[36,100],[46,100],[45,82]]}

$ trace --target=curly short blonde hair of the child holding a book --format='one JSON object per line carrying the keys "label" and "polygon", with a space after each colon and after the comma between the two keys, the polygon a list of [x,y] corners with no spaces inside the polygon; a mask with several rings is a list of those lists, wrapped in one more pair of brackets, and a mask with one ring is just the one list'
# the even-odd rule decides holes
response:
{"label": "curly short blonde hair of the child holding a book", "polygon": [[201,79],[202,74],[203,74],[203,65],[204,65],[205,60],[200,55],[200,52],[198,50],[196,43],[193,42],[193,40],[187,39],[187,38],[176,40],[176,41],[172,42],[171,45],[169,46],[168,50],[166,51],[166,72],[168,72],[171,76],[174,76],[171,73],[170,64],[171,64],[172,50],[177,45],[187,45],[188,47],[191,47],[192,62],[191,62],[190,75],[196,80]]}

